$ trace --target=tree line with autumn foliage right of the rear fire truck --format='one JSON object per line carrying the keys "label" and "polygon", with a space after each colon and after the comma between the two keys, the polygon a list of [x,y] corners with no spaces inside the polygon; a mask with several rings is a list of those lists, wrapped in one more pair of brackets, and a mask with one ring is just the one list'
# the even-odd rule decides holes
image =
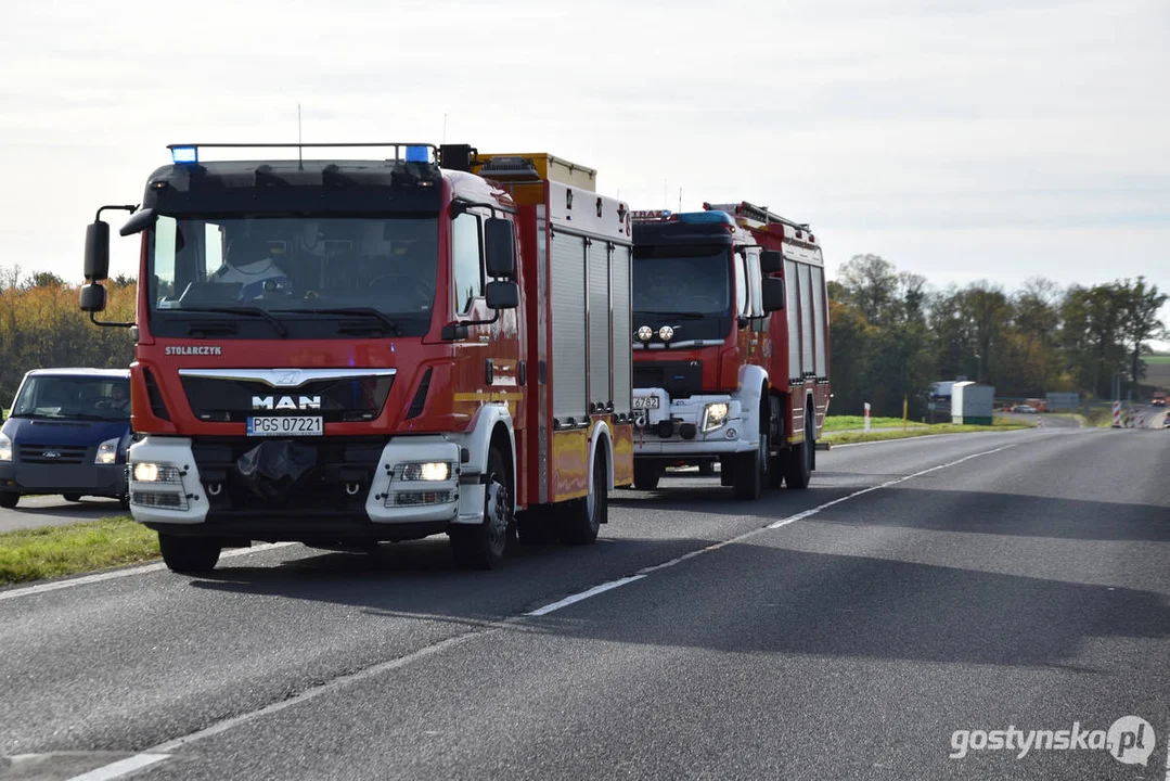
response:
{"label": "tree line with autumn foliage right of the rear fire truck", "polygon": [[880,255],[855,255],[828,283],[832,409],[925,412],[927,389],[958,377],[1007,398],[1078,392],[1148,398],[1142,355],[1164,338],[1166,294],[1144,278],[1061,287],[1034,278],[1018,290],[979,281],[931,289]]}

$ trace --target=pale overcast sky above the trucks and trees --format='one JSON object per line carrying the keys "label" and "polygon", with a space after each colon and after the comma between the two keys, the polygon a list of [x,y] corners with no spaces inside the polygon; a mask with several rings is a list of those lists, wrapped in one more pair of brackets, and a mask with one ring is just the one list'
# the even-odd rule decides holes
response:
{"label": "pale overcast sky above the trucks and trees", "polygon": [[831,269],[1170,290],[1166,0],[9,5],[0,266],[25,273],[77,280],[85,222],[166,144],[295,141],[300,103],[305,142],[446,130],[634,208],[766,205]]}

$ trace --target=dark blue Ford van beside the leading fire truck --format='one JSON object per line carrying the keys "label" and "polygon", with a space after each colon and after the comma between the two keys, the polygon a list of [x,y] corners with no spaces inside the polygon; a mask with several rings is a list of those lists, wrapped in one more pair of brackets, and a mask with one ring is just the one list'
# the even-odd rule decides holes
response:
{"label": "dark blue Ford van beside the leading fire truck", "polygon": [[0,507],[21,494],[111,496],[126,507],[129,369],[35,369],[0,427]]}

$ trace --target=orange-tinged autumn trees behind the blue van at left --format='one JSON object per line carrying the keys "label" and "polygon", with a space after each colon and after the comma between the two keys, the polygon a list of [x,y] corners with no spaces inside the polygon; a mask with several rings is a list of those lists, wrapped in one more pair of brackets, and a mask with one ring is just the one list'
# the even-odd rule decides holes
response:
{"label": "orange-tinged autumn trees behind the blue van at left", "polygon": [[[103,320],[135,318],[135,281],[118,276],[106,285]],[[30,369],[94,366],[125,369],[133,342],[125,328],[98,328],[77,308],[80,288],[53,272],[23,276],[0,272],[0,407],[12,405]]]}

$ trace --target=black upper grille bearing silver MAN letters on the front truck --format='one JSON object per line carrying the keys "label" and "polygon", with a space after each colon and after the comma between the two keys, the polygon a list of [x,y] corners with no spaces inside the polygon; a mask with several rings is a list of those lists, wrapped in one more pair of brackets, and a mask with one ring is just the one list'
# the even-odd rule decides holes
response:
{"label": "black upper grille bearing silver MAN letters on the front truck", "polygon": [[321,407],[300,410],[304,415],[319,415],[325,423],[373,420],[394,384],[393,377],[346,377],[343,379],[317,379],[289,390],[273,388],[249,379],[218,379],[208,377],[181,377],[183,390],[187,395],[191,411],[200,420],[213,423],[243,423],[254,415],[290,415],[294,409],[257,409],[253,397],[271,399],[273,405],[282,398],[291,399],[297,406],[302,397],[317,402]]}

